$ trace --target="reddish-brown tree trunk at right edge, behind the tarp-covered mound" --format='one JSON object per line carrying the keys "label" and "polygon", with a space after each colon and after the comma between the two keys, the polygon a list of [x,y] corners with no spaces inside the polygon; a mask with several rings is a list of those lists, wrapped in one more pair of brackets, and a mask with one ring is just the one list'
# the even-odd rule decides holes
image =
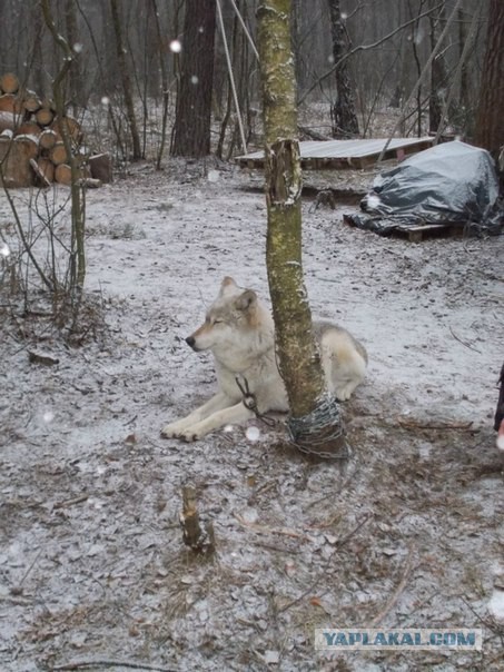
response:
{"label": "reddish-brown tree trunk at right edge, behind the tarp-covered mound", "polygon": [[[483,62],[480,106],[476,115],[475,145],[487,149],[498,165],[504,146],[504,2],[491,0]],[[501,194],[504,192],[500,169]]]}

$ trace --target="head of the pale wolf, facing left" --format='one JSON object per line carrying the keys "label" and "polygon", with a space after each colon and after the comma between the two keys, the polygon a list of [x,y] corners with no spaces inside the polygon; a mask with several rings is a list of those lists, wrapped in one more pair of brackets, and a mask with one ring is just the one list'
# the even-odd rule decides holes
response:
{"label": "head of the pale wolf, facing left", "polygon": [[225,277],[204,324],[186,338],[186,343],[196,352],[218,354],[236,349],[247,334],[259,327],[260,316],[256,293],[238,287],[233,278]]}

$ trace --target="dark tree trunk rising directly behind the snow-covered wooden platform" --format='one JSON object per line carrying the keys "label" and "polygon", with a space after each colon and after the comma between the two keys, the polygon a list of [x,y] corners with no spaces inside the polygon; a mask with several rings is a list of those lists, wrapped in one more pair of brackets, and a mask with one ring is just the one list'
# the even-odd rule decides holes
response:
{"label": "dark tree trunk rising directly behind the snow-covered wooden platform", "polygon": [[[339,0],[327,0],[330,12],[330,33],[333,37],[333,58],[337,63],[348,50],[347,33],[342,19]],[[358,120],[355,112],[354,91],[347,61],[336,68],[336,102],[330,108],[333,137],[358,136]]]}

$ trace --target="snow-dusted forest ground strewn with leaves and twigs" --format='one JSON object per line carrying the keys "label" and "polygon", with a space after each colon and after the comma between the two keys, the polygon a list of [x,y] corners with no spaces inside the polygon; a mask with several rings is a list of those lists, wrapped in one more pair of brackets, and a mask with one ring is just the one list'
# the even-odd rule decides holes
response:
{"label": "snow-dusted forest ground strewn with leaves and twigs", "polygon": [[[87,195],[97,309],[85,342],[69,347],[41,317],[2,314],[2,671],[100,660],[174,671],[502,670],[493,612],[504,461],[492,425],[504,236],[415,245],[348,228],[342,215],[355,205],[304,200],[313,313],[369,354],[365,384],[342,406],[352,457],[294,453],[281,419],[251,423],[257,441],[245,427],[195,444],[161,439],[164,424],[215,389],[211,358],[184,338],[223,276],[268,296],[266,206],[254,185],[216,162],[134,167]],[[26,214],[28,190],[14,198]],[[0,226],[10,220],[1,195]],[[29,350],[58,363],[30,362]],[[214,523],[211,559],[182,544],[187,482]],[[336,655],[314,649],[324,626],[483,627],[484,643]]]}

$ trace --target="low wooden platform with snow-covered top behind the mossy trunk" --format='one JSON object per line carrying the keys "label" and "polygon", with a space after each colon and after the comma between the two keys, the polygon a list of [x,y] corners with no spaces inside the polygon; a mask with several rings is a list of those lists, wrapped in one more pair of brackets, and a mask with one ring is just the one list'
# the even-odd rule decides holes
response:
{"label": "low wooden platform with snow-covered top behind the mossy trunk", "polygon": [[[393,138],[384,159],[403,159],[405,156],[428,149],[433,138]],[[342,168],[367,168],[376,164],[386,138],[370,140],[322,140],[299,142],[304,170],[330,170]],[[241,168],[264,168],[264,151],[254,151],[235,158]]]}

